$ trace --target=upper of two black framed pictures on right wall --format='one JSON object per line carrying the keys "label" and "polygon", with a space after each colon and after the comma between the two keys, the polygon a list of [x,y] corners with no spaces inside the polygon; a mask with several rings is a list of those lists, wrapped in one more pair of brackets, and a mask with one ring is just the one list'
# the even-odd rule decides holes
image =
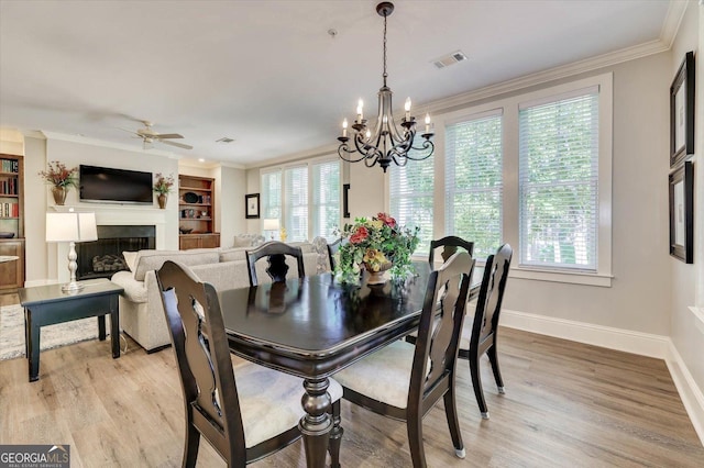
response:
{"label": "upper of two black framed pictures on right wall", "polygon": [[688,52],[670,86],[670,167],[694,154],[694,53]]}

